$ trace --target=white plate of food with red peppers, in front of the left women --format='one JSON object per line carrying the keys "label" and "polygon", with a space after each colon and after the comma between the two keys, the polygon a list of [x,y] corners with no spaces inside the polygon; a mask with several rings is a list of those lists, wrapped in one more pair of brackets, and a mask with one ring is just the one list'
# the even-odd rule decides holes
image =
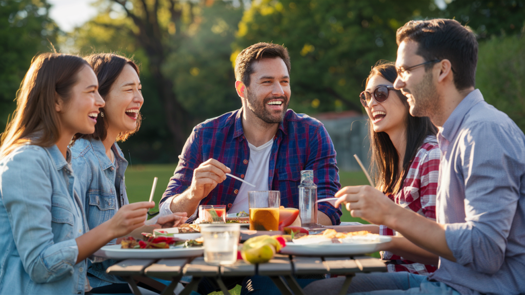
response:
{"label": "white plate of food with red peppers, in front of the left women", "polygon": [[143,239],[124,238],[120,245],[104,246],[100,252],[112,259],[193,257],[204,253],[202,240],[202,237],[185,240],[149,234]]}

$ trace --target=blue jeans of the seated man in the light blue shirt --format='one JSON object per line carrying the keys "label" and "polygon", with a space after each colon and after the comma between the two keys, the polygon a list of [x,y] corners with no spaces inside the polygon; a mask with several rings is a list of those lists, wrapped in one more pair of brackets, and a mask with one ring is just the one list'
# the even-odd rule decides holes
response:
{"label": "blue jeans of the seated man in the light blue shirt", "polygon": [[[344,277],[318,280],[310,283],[306,294],[338,294]],[[428,281],[426,276],[409,272],[357,273],[347,293],[352,294],[442,294],[460,295],[442,282]]]}

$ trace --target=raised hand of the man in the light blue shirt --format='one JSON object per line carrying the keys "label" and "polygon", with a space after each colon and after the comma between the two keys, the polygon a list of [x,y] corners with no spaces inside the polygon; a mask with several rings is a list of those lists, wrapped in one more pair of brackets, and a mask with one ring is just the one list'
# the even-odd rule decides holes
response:
{"label": "raised hand of the man in the light blue shirt", "polygon": [[401,208],[369,185],[343,187],[335,197],[339,198],[335,201],[336,208],[344,203],[352,217],[360,217],[373,224],[388,224],[387,219]]}

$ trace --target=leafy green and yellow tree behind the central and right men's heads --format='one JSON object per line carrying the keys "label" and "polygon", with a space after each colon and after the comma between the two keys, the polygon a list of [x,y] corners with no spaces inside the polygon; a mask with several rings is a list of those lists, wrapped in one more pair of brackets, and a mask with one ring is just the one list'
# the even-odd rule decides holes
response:
{"label": "leafy green and yellow tree behind the central and right men's heads", "polygon": [[395,60],[397,28],[434,16],[432,1],[253,2],[239,23],[234,56],[258,41],[286,46],[290,108],[361,111],[359,93],[377,60]]}

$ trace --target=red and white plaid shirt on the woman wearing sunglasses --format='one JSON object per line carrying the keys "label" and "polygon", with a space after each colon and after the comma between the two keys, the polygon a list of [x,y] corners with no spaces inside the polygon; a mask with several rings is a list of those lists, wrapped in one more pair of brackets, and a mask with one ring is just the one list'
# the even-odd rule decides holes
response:
{"label": "red and white plaid shirt on the woman wearing sunglasses", "polygon": [[[436,220],[436,191],[439,173],[439,146],[436,136],[428,136],[412,160],[403,188],[395,195],[388,195],[397,205]],[[379,234],[394,236],[395,230],[381,225]],[[392,252],[381,252],[383,260],[390,260],[386,267],[389,272],[408,271],[417,275],[429,275],[436,271],[433,265],[413,262]]]}

